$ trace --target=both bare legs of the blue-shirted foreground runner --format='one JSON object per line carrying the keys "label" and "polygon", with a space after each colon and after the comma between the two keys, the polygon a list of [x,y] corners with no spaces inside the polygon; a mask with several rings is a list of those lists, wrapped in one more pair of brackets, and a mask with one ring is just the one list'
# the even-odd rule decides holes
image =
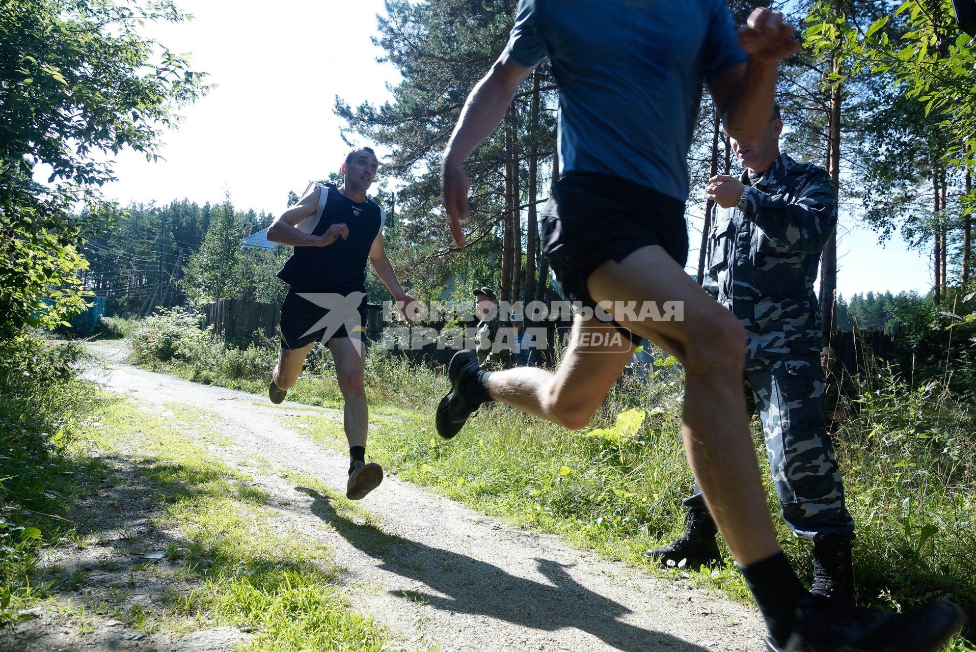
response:
{"label": "both bare legs of the blue-shirted foreground runner", "polygon": [[[663,346],[685,371],[684,445],[695,478],[719,531],[743,566],[780,548],[762,492],[742,392],[745,335],[735,317],[716,304],[657,246],[623,261],[600,265],[588,281],[596,302],[683,303],[683,321],[618,321]],[[597,328],[595,319],[574,325],[574,335]],[[602,329],[604,332],[605,328]],[[594,352],[596,354],[594,354]],[[569,428],[584,428],[627,364],[623,346],[570,347],[554,374],[517,369],[492,374],[492,397]],[[579,405],[579,408],[575,406]]]}

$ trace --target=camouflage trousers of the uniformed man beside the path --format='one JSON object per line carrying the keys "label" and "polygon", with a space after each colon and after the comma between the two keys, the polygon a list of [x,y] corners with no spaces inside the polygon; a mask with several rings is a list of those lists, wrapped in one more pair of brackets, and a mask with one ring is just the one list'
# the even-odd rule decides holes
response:
{"label": "camouflage trousers of the uniformed man beside the path", "polygon": [[[834,443],[827,433],[824,372],[816,354],[777,355],[747,364],[746,397],[757,411],[766,440],[783,518],[801,539],[854,536],[854,521],[844,504]],[[695,495],[689,509],[705,509]]]}

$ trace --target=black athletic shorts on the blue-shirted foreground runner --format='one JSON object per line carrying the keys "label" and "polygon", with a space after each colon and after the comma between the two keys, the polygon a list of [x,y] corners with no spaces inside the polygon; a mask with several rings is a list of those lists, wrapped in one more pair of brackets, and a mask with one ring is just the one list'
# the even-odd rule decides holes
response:
{"label": "black athletic shorts on the blue-shirted foreground runner", "polygon": [[556,182],[541,236],[563,292],[591,308],[587,279],[607,261],[621,263],[648,245],[664,247],[682,267],[688,261],[684,203],[608,175],[571,172]]}

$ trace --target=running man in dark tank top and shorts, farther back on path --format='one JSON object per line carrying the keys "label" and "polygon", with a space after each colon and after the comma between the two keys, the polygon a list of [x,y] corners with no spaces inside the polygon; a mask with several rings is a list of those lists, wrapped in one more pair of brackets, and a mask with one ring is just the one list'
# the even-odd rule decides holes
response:
{"label": "running man in dark tank top and shorts, farther back on path", "polygon": [[[366,261],[383,280],[401,313],[414,302],[403,291],[383,246],[383,209],[366,197],[378,161],[370,147],[350,151],[342,171],[346,183],[313,185],[299,203],[267,229],[267,239],[295,247],[278,278],[290,289],[281,306],[281,349],[268,396],[285,399],[305,355],[324,342],[336,363],[344,398],[349,474],[346,497],[359,500],[383,481],[383,469],[366,464],[369,408],[363,388]],[[324,193],[324,194],[323,194]],[[323,206],[324,203],[324,206]],[[320,208],[321,207],[321,212]]]}

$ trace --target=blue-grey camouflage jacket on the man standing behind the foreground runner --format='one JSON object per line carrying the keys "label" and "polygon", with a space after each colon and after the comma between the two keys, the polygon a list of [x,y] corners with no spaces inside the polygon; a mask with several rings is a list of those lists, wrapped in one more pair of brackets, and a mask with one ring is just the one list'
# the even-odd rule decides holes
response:
{"label": "blue-grey camouflage jacket on the man standing behind the foreground runner", "polygon": [[786,154],[754,185],[749,173],[739,208],[717,207],[705,286],[746,329],[746,359],[818,352],[823,333],[813,284],[837,222],[834,183],[823,168]]}

